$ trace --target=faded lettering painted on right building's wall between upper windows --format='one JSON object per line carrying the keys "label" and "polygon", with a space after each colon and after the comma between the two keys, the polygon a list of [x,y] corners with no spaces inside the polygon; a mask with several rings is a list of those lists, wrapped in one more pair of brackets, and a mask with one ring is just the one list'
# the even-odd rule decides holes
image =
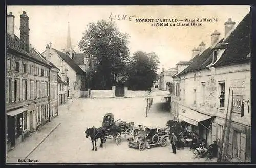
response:
{"label": "faded lettering painted on right building's wall between upper windows", "polygon": [[216,107],[216,80],[214,78],[210,78],[206,82],[206,102],[205,107],[207,110],[212,111]]}

